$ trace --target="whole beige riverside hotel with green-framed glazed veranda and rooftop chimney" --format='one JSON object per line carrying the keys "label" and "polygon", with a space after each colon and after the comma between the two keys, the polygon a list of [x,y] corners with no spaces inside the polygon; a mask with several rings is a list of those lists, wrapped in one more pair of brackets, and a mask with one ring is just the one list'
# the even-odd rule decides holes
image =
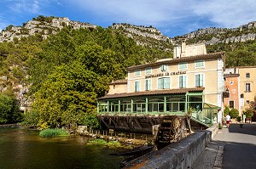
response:
{"label": "whole beige riverside hotel with green-framed glazed veranda and rooftop chimney", "polygon": [[99,114],[187,115],[211,125],[222,121],[224,52],[207,54],[204,44],[174,49],[173,59],[128,67],[125,80],[112,82],[98,99]]}

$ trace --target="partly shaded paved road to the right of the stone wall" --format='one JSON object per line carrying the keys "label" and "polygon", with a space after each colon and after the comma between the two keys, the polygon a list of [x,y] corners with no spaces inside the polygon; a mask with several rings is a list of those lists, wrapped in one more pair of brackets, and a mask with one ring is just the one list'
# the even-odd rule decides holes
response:
{"label": "partly shaded paved road to the right of the stone wall", "polygon": [[[220,153],[220,149],[223,149]],[[193,169],[256,169],[256,124],[232,123],[218,130]]]}

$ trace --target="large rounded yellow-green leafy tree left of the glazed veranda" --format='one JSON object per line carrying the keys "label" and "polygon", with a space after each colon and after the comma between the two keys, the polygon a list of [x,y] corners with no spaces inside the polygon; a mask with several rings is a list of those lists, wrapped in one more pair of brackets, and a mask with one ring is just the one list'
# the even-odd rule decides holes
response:
{"label": "large rounded yellow-green leafy tree left of the glazed veranda", "polygon": [[35,93],[33,109],[50,127],[84,124],[87,115],[96,116],[97,93],[108,91],[108,79],[80,62],[58,66]]}

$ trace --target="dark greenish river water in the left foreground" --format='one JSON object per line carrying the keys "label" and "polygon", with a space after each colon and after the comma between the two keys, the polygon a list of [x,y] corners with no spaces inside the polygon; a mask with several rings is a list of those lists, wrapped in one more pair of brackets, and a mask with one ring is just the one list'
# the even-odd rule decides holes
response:
{"label": "dark greenish river water in the left foreground", "polygon": [[91,138],[69,136],[41,138],[37,131],[0,128],[1,169],[119,168],[122,156],[114,149],[86,144]]}

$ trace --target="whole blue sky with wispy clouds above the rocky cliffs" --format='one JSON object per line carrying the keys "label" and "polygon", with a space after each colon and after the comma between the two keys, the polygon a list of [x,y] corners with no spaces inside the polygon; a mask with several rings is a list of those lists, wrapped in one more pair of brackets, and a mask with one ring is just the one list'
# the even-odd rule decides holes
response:
{"label": "whole blue sky with wispy clouds above the rocky cliffs", "polygon": [[256,21],[255,0],[1,0],[0,31],[32,18],[68,17],[108,27],[152,25],[168,37],[207,27],[238,27]]}

